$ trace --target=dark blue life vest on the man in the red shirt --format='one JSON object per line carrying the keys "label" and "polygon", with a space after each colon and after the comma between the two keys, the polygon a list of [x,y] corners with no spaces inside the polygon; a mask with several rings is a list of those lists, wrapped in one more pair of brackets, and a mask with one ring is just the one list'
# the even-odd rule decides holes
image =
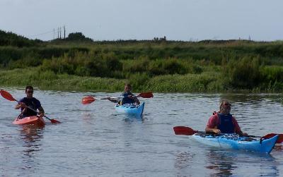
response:
{"label": "dark blue life vest on the man in the red shirt", "polygon": [[217,114],[219,118],[219,125],[217,128],[221,133],[235,133],[235,126],[233,125],[231,114]]}

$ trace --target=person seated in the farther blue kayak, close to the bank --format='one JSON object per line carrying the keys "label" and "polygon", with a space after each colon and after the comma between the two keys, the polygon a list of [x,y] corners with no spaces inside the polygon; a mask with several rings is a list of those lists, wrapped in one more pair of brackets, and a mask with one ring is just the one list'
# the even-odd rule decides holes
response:
{"label": "person seated in the farther blue kayak, close to the bank", "polygon": [[119,103],[120,105],[122,104],[137,104],[139,105],[139,99],[137,99],[136,96],[134,96],[134,94],[132,94],[131,92],[132,90],[132,86],[128,83],[125,84],[124,87],[124,92],[122,92],[121,96],[122,100],[120,99],[111,99],[110,97],[108,97],[108,100],[110,100],[110,102],[115,102],[115,103]]}

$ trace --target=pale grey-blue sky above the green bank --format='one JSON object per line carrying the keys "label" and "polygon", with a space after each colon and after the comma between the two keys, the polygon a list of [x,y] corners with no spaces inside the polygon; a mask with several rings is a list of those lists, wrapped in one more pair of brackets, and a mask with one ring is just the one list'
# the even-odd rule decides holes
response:
{"label": "pale grey-blue sky above the green bank", "polygon": [[95,41],[283,39],[283,0],[0,0],[0,17],[0,30],[42,40],[64,26]]}

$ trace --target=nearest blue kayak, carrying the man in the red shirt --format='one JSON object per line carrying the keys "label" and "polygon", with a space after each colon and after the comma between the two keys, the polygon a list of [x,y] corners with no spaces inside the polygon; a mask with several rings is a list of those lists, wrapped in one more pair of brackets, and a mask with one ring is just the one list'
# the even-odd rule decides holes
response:
{"label": "nearest blue kayak, carrying the man in the red shirt", "polygon": [[204,145],[221,147],[223,149],[242,149],[252,152],[270,153],[275,147],[278,135],[264,140],[241,137],[235,133],[223,135],[209,135],[204,133],[195,133],[192,138]]}

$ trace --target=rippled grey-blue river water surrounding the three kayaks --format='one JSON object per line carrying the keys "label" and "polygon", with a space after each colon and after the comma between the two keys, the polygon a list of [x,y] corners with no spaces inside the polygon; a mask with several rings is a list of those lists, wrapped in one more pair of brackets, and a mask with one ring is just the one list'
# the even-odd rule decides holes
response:
{"label": "rippled grey-blue river water surrounding the three kayaks", "polygon": [[117,115],[108,100],[82,105],[86,94],[120,95],[35,90],[47,116],[62,122],[41,129],[13,126],[16,102],[0,97],[1,176],[283,176],[283,145],[255,154],[205,147],[173,133],[173,126],[204,130],[221,98],[231,100],[248,134],[283,133],[282,94],[156,93],[141,98],[143,119]]}

